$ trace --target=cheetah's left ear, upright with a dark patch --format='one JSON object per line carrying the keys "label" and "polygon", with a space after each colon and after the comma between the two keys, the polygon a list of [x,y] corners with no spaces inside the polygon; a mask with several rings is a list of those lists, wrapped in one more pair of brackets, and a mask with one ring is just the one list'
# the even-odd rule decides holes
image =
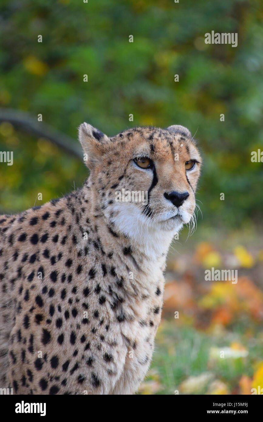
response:
{"label": "cheetah's left ear, upright with a dark patch", "polygon": [[84,152],[84,163],[92,170],[100,163],[109,138],[91,124],[84,122],[79,126],[79,142]]}

